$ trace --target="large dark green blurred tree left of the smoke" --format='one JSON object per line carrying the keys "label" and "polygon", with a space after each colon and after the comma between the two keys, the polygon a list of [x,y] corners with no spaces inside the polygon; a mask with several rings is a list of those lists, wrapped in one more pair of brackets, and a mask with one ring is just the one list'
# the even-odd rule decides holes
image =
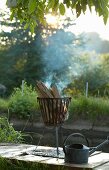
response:
{"label": "large dark green blurred tree left of the smoke", "polygon": [[[6,14],[5,14],[6,16]],[[14,87],[21,85],[23,79],[35,85],[36,80],[45,78],[42,48],[44,46],[42,30],[37,27],[36,34],[31,36],[29,30],[24,30],[18,21],[1,21],[1,27],[7,27],[7,32],[0,32],[0,83],[7,87],[10,94]],[[11,28],[11,32],[8,29]]]}

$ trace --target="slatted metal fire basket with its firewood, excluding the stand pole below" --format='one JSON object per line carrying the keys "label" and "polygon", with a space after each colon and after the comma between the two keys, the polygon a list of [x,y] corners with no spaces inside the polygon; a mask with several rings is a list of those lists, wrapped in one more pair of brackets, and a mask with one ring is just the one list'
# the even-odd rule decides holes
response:
{"label": "slatted metal fire basket with its firewood, excluding the stand pole below", "polygon": [[36,84],[36,90],[44,123],[49,126],[63,123],[68,117],[68,105],[71,98],[62,98],[56,85],[48,89],[40,81]]}

